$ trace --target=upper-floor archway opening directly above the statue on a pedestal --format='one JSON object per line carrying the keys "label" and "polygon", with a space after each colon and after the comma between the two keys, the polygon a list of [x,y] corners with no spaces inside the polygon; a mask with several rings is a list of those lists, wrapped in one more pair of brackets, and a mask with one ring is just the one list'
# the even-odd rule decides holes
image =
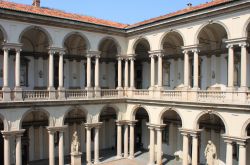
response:
{"label": "upper-floor archway opening directly above the statue on a pedestal", "polygon": [[[84,67],[84,57],[89,50],[89,42],[87,38],[80,33],[68,34],[63,42],[65,48],[64,70],[65,87],[68,89],[80,89],[86,85],[86,70]],[[84,74],[82,74],[84,72]],[[94,72],[92,73],[94,74]]]}

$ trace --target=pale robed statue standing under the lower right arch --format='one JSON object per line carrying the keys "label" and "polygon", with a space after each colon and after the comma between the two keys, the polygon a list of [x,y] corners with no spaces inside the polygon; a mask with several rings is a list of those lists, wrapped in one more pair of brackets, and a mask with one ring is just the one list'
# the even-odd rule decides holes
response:
{"label": "pale robed statue standing under the lower right arch", "polygon": [[206,165],[215,165],[217,160],[217,153],[216,153],[216,147],[211,140],[208,141],[204,153],[207,159]]}

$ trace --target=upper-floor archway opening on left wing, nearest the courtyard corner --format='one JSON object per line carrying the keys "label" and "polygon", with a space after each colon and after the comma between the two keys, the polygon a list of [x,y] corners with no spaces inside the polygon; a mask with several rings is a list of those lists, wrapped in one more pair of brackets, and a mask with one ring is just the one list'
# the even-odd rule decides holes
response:
{"label": "upper-floor archway opening on left wing, nearest the courtyard corner", "polygon": [[115,89],[118,86],[117,56],[121,53],[120,46],[115,39],[107,37],[101,40],[98,50],[101,52],[99,73],[101,88]]}

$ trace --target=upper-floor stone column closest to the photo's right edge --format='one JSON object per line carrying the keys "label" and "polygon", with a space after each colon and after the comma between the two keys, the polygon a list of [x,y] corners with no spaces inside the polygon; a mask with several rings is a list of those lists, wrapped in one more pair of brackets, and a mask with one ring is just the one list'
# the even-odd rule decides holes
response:
{"label": "upper-floor stone column closest to the photo's right edge", "polygon": [[247,43],[240,44],[241,46],[241,84],[240,88],[247,90]]}

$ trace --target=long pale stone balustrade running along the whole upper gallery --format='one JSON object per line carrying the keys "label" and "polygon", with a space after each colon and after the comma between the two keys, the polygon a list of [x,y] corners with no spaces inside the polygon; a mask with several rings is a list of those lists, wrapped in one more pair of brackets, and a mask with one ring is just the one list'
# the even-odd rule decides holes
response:
{"label": "long pale stone balustrade running along the whole upper gallery", "polygon": [[[0,91],[0,102],[62,101],[88,99],[149,99],[171,102],[199,102],[215,104],[250,104],[250,91],[212,91],[212,90],[116,90],[116,89],[65,89],[61,91],[23,90],[10,91],[10,99],[5,100],[5,92]],[[21,98],[17,98],[17,97]]]}

